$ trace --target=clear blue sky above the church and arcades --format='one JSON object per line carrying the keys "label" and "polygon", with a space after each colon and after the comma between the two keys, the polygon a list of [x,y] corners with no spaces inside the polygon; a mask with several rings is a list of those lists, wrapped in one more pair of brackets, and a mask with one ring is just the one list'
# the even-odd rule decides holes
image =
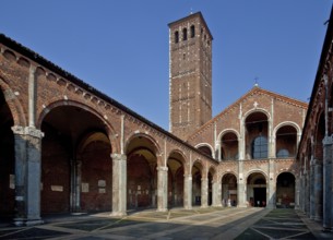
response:
{"label": "clear blue sky above the church and arcades", "polygon": [[168,130],[167,24],[201,11],[213,116],[262,88],[308,101],[332,0],[2,0],[0,32]]}

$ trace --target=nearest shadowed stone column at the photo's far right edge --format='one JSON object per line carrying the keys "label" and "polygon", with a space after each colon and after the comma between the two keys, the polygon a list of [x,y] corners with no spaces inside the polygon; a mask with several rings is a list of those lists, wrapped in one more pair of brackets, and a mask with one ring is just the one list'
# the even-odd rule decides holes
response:
{"label": "nearest shadowed stone column at the photo's far right edge", "polygon": [[323,140],[323,228],[333,230],[333,135]]}

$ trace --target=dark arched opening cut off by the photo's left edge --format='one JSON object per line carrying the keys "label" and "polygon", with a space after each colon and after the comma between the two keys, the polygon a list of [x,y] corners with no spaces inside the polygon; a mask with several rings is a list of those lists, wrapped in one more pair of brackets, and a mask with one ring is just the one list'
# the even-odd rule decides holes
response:
{"label": "dark arched opening cut off by the photo's left edge", "polygon": [[0,215],[13,216],[15,204],[14,121],[0,91]]}

